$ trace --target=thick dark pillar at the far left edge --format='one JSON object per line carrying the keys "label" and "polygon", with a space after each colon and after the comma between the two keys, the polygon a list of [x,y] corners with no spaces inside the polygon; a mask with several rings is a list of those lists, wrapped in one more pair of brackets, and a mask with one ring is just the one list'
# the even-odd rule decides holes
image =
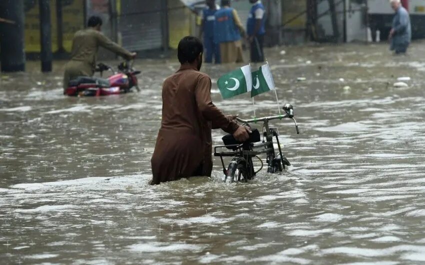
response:
{"label": "thick dark pillar at the far left edge", "polygon": [[1,71],[25,70],[23,0],[0,0]]}

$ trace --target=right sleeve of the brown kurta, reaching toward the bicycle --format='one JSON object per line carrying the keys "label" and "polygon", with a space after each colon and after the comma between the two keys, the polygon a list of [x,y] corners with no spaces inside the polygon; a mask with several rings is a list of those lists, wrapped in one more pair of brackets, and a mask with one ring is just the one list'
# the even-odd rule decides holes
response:
{"label": "right sleeve of the brown kurta, reaching toward the bicycle", "polygon": [[199,111],[206,120],[212,122],[212,128],[221,128],[227,133],[233,134],[239,127],[231,117],[226,117],[211,100],[211,79],[202,75],[198,78],[195,88],[196,103]]}

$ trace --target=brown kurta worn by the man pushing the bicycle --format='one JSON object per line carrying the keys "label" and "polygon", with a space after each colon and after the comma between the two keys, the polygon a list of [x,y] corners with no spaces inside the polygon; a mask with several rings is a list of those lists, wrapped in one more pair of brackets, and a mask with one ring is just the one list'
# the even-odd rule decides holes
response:
{"label": "brown kurta worn by the man pushing the bicycle", "polygon": [[187,65],[165,79],[152,184],[211,175],[211,128],[234,133],[238,125],[212,103],[210,89],[209,76]]}

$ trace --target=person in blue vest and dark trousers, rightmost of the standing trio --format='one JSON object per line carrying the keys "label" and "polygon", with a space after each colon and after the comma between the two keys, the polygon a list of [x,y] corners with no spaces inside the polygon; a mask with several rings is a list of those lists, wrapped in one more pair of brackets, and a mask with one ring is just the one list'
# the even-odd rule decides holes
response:
{"label": "person in blue vest and dark trousers, rightmost of the standing trio", "polygon": [[264,61],[263,43],[265,34],[265,8],[260,0],[249,0],[252,3],[246,23],[246,33],[250,45],[251,62]]}

